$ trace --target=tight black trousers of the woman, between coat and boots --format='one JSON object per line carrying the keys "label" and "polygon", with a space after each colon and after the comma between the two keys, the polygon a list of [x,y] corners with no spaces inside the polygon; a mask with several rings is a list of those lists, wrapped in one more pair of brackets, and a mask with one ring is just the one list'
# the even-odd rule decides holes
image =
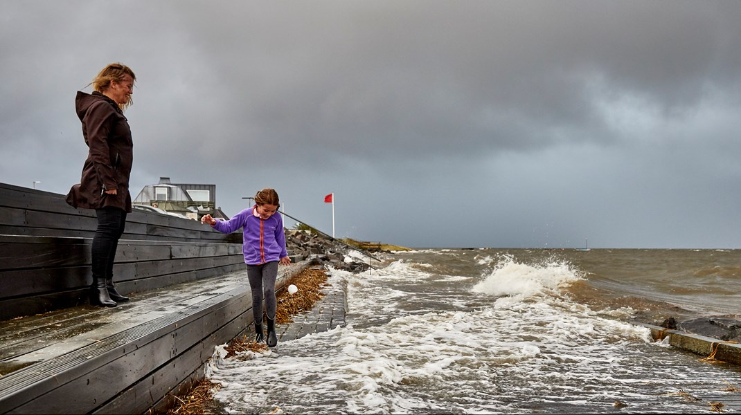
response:
{"label": "tight black trousers of the woman, between coat and boots", "polygon": [[113,260],[126,226],[126,211],[116,208],[95,209],[98,229],[93,237],[93,279],[113,278]]}

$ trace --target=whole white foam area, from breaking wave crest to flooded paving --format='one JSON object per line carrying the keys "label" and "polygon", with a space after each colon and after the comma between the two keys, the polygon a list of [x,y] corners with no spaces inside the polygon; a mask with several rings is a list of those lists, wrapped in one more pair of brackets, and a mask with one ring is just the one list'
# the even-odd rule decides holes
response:
{"label": "whole white foam area, from breaking wave crest to flooded paving", "polygon": [[[641,388],[661,374],[642,360],[665,348],[652,348],[648,328],[560,295],[579,280],[564,264],[498,264],[475,288],[461,286],[470,276],[433,275],[411,260],[372,274],[332,270],[348,281],[348,325],[249,360],[216,359],[216,397],[229,413],[594,411],[617,397],[656,405]],[[441,291],[455,309],[420,313],[414,301]]]}

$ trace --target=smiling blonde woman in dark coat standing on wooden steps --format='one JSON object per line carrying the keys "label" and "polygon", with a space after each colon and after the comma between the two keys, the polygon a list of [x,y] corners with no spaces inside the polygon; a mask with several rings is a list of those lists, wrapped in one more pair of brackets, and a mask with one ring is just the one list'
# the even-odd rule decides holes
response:
{"label": "smiling blonde woman in dark coat standing on wooden steps", "polygon": [[80,183],[72,186],[67,203],[95,209],[98,227],[93,237],[93,285],[90,303],[115,307],[128,301],[113,285],[113,260],[131,212],[129,175],[133,159],[131,129],[124,109],[132,104],[136,75],[124,64],[109,64],[93,82],[93,93],[77,92],[77,116],[89,148]]}

